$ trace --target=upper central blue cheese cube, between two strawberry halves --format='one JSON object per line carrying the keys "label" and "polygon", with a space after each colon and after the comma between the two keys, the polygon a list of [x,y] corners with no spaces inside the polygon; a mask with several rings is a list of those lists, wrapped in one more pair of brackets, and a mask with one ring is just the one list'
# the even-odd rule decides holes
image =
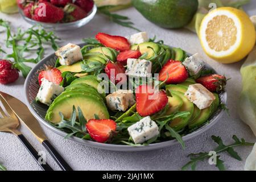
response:
{"label": "upper central blue cheese cube, between two strawberry halves", "polygon": [[134,77],[151,77],[152,63],[145,59],[127,59],[125,74]]}

